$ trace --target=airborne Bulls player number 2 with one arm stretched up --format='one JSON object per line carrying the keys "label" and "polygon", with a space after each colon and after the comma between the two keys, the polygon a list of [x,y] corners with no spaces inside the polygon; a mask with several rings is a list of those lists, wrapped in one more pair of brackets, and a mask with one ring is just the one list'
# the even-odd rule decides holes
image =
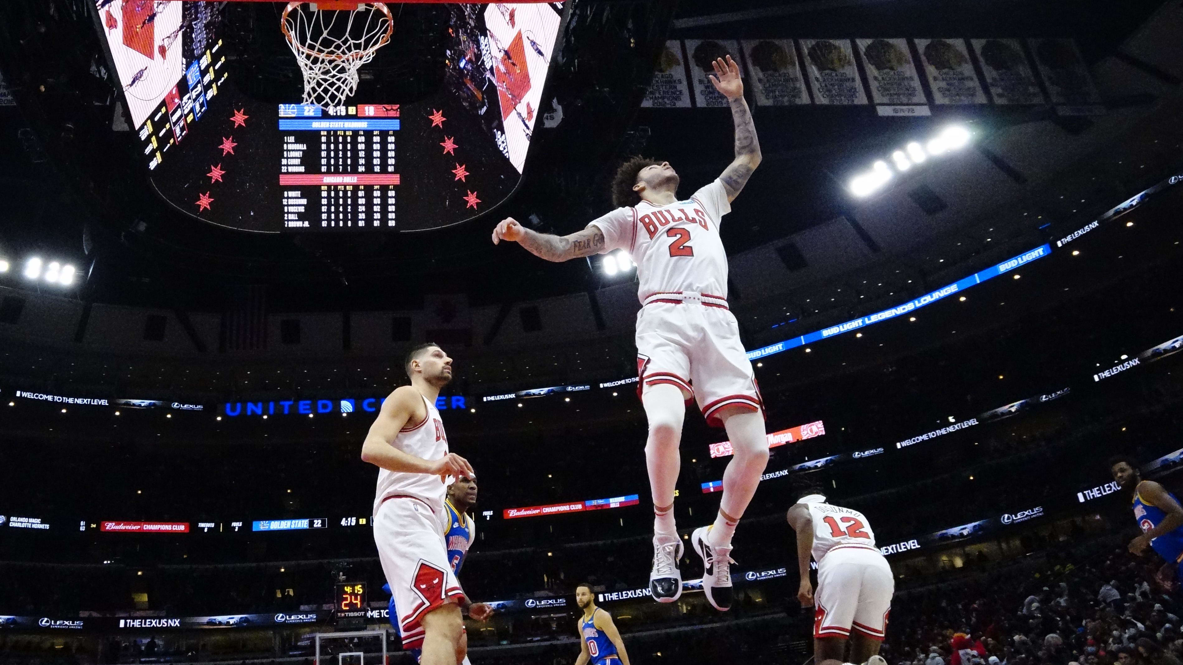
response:
{"label": "airborne Bulls player number 2 with one arm stretched up", "polygon": [[654,511],[649,590],[660,602],[681,595],[683,544],[673,497],[681,466],[684,400],[693,396],[709,424],[726,428],[735,448],[723,474],[718,517],[691,536],[703,557],[706,599],[717,609],[729,609],[731,536],[768,464],[768,439],[751,362],[728,309],[728,257],[719,221],[761,155],[739,66],[729,56],[715,62],[715,73],[711,83],[729,99],[735,120],[735,161],[717,180],[689,199],[678,199],[678,174],[667,162],[635,157],[616,172],[613,202],[620,207],[583,231],[548,235],[509,218],[493,230],[493,243],[512,240],[551,262],[623,250],[636,263],[642,304],[636,315],[636,364],[649,424],[645,458]]}

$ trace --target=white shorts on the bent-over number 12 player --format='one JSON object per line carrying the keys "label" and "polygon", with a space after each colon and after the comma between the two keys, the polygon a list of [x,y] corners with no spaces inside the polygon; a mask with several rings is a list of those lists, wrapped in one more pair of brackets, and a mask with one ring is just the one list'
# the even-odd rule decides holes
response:
{"label": "white shorts on the bent-over number 12 player", "polygon": [[896,580],[868,545],[838,545],[817,564],[814,637],[848,638],[851,631],[883,640]]}

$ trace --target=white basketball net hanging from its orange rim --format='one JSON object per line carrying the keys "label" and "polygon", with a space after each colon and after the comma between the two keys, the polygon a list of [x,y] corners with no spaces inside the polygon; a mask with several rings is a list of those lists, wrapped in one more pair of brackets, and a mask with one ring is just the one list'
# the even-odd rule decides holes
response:
{"label": "white basketball net hanging from its orange rim", "polygon": [[331,2],[289,2],[283,30],[304,75],[304,103],[340,106],[357,90],[357,70],[374,59],[394,31],[382,2],[334,9]]}

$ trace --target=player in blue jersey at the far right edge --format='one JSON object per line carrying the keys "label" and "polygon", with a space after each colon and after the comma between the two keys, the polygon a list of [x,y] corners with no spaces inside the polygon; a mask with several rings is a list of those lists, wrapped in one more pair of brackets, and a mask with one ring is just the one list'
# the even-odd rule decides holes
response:
{"label": "player in blue jersey at the far right edge", "polygon": [[1183,506],[1175,495],[1153,480],[1143,480],[1138,464],[1129,457],[1110,460],[1110,472],[1123,490],[1133,495],[1133,517],[1142,535],[1130,541],[1130,551],[1142,554],[1148,547],[1166,560],[1159,579],[1166,581],[1183,563]]}

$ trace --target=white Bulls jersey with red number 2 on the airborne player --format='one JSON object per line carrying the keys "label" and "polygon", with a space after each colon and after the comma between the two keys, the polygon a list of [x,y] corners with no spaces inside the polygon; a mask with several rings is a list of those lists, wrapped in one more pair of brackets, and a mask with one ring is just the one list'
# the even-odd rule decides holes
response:
{"label": "white Bulls jersey with red number 2 on the airborne player", "polygon": [[641,201],[593,220],[605,252],[625,250],[636,264],[641,302],[653,293],[694,291],[728,297],[728,254],[719,221],[731,212],[718,180],[690,199],[654,206]]}

